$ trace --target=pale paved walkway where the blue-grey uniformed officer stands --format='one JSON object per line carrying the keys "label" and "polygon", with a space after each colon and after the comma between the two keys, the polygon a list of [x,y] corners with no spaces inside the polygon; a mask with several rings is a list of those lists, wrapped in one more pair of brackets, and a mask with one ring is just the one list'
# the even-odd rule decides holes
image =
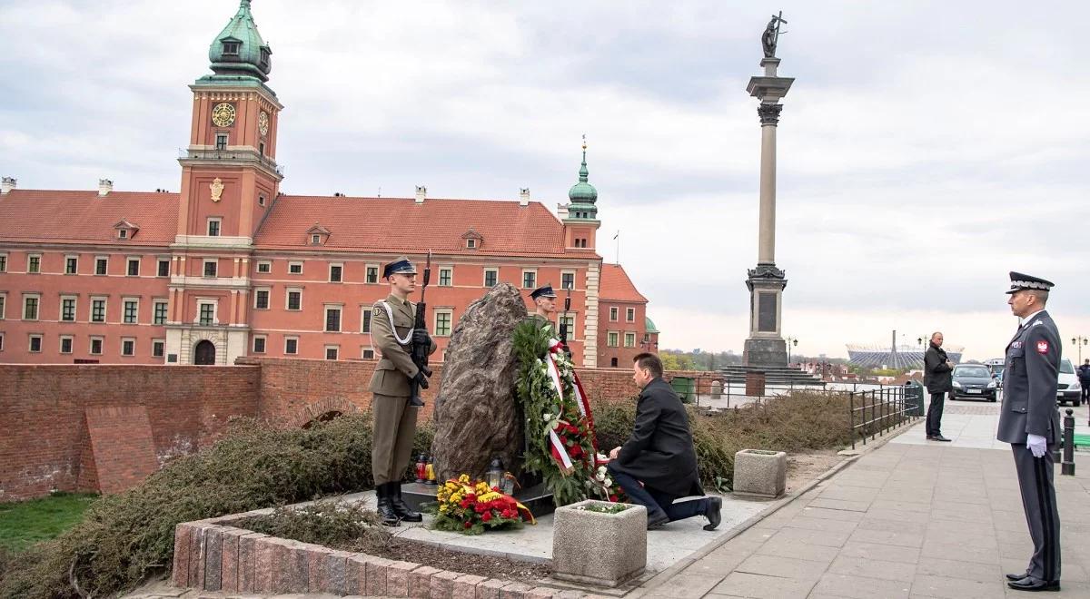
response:
{"label": "pale paved walkway where the blue-grey uniformed officer stands", "polygon": [[[1032,542],[1009,445],[985,435],[998,405],[947,406],[954,442],[924,441],[919,423],[643,597],[1025,597],[1003,578]],[[1063,590],[1050,597],[1090,597],[1090,453],[1076,472],[1056,466]]]}

